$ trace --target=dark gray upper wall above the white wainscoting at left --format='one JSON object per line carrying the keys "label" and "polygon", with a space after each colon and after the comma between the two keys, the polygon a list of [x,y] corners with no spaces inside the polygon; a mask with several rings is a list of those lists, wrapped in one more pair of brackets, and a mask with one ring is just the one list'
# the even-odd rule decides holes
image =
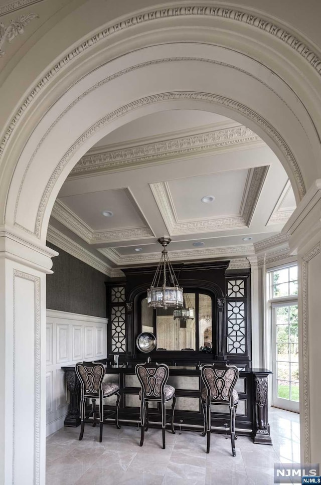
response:
{"label": "dark gray upper wall above the white wainscoting at left", "polygon": [[62,249],[52,258],[54,271],[47,275],[47,308],[106,317],[105,281],[110,278]]}

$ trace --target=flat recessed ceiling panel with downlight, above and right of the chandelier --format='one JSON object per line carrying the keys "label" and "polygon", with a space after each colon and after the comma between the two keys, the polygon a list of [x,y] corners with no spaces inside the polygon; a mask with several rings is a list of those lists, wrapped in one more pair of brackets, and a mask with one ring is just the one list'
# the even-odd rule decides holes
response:
{"label": "flat recessed ceiling panel with downlight, above and right of the chandelier", "polygon": [[[239,214],[247,175],[248,170],[237,170],[169,181],[178,221]],[[215,199],[204,203],[206,196]]]}

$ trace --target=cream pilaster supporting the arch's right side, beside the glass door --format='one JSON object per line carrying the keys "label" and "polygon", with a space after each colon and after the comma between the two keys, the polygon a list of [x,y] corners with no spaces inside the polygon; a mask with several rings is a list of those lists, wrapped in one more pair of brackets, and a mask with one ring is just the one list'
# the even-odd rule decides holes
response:
{"label": "cream pilaster supporting the arch's right side, beside the glass door", "polygon": [[321,180],[308,190],[284,231],[298,254],[301,462],[321,462]]}

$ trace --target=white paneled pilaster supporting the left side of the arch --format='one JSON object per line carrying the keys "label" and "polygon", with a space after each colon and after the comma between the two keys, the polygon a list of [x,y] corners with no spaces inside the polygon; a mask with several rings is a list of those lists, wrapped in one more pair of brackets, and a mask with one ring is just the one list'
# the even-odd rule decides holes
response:
{"label": "white paneled pilaster supporting the left side of the arch", "polygon": [[0,230],[0,483],[45,483],[46,273],[56,251]]}

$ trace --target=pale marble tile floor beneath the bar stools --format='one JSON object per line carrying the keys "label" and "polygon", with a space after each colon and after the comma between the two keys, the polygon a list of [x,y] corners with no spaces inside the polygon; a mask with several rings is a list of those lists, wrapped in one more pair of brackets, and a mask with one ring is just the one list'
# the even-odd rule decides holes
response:
{"label": "pale marble tile floor beneath the bar stools", "polygon": [[61,428],[47,438],[46,485],[270,485],[274,483],[274,463],[300,462],[299,415],[269,409],[272,446],[254,444],[239,436],[236,456],[230,438],[211,435],[206,454],[206,438],[199,432],[166,433],[150,428],[144,445],[134,426],[104,425],[102,443],[99,428],[85,425]]}

